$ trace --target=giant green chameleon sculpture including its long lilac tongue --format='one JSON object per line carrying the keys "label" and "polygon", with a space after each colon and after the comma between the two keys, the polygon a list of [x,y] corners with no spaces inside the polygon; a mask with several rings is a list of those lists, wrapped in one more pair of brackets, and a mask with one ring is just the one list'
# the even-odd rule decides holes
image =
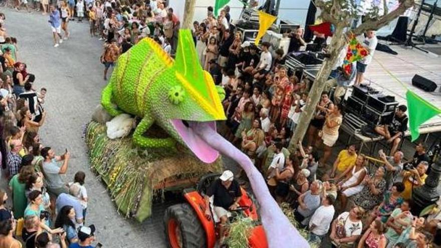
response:
{"label": "giant green chameleon sculpture including its long lilac tongue", "polygon": [[[133,134],[141,147],[172,148],[178,141],[205,163],[217,159],[217,150],[235,159],[261,206],[269,247],[309,247],[271,197],[251,160],[216,133],[215,121],[226,119],[220,103],[225,92],[216,89],[210,74],[202,70],[189,30],[179,31],[178,42],[175,61],[150,38],[121,55],[101,104],[112,116],[125,112],[142,118]],[[171,137],[145,137],[153,123]]]}

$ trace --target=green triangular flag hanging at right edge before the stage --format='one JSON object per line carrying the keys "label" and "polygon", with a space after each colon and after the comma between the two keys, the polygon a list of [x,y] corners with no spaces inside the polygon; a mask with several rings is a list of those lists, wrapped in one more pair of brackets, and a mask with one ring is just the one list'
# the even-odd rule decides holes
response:
{"label": "green triangular flag hanging at right edge before the stage", "polygon": [[414,141],[419,136],[419,125],[423,124],[433,116],[441,114],[441,110],[410,90],[407,90],[406,92],[406,99],[407,110],[409,112],[410,135],[412,136],[412,141]]}

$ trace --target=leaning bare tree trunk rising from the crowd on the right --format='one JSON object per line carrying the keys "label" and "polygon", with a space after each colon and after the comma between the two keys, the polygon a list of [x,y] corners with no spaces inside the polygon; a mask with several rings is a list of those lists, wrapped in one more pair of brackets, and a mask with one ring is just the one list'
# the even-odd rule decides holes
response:
{"label": "leaning bare tree trunk rising from the crowd on the right", "polygon": [[[342,22],[343,23],[343,22]],[[331,55],[330,58],[325,59],[319,73],[309,91],[309,102],[305,106],[305,110],[300,115],[299,124],[294,131],[293,137],[291,138],[288,149],[290,152],[295,152],[299,140],[303,140],[306,131],[308,130],[309,122],[314,115],[317,104],[320,101],[321,94],[325,88],[326,81],[331,74],[332,67],[337,63],[338,55],[345,46],[346,38],[344,35],[343,24],[336,25],[335,32],[332,36],[331,44],[329,45],[328,53]]]}

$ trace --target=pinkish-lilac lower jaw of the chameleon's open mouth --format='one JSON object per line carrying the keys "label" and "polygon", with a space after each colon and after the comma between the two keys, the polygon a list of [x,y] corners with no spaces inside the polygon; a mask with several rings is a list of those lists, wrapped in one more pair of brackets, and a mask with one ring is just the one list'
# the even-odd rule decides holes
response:
{"label": "pinkish-lilac lower jaw of the chameleon's open mouth", "polygon": [[[214,150],[194,132],[191,126],[189,126],[191,123],[193,122],[178,119],[171,120],[171,124],[182,138],[182,141],[194,153],[194,155],[197,156],[197,158],[204,163],[214,162],[219,156],[219,152]],[[204,122],[204,124],[214,132],[216,131],[216,123],[214,121]]]}

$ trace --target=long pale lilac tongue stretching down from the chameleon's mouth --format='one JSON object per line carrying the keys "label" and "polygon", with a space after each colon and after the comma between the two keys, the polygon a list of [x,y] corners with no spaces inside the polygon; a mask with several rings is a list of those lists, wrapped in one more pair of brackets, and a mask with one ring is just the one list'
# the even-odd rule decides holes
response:
{"label": "long pale lilac tongue stretching down from the chameleon's mouth", "polygon": [[259,213],[267,235],[270,248],[306,248],[308,242],[290,223],[277,202],[268,191],[262,174],[256,169],[250,158],[220,136],[212,122],[188,122],[192,135],[198,140],[217,149],[220,153],[233,158],[247,173],[253,192],[259,202]]}

